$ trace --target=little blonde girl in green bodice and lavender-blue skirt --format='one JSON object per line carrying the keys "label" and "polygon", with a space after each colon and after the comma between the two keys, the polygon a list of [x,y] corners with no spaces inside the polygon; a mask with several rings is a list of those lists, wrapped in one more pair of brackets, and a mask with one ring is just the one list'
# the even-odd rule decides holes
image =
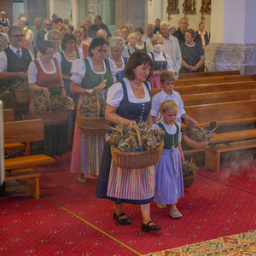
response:
{"label": "little blonde girl in green bodice and lavender-blue skirt", "polygon": [[165,131],[165,145],[160,161],[155,166],[154,172],[154,201],[158,207],[165,208],[170,205],[172,218],[182,218],[178,212],[176,203],[183,197],[183,171],[181,161],[184,160],[181,147],[180,123],[177,123],[177,104],[172,100],[166,100],[160,105],[162,120],[154,125]]}

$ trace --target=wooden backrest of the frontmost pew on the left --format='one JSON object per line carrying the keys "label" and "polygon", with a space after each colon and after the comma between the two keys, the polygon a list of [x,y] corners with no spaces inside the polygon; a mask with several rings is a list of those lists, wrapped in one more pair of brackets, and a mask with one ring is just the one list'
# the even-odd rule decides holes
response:
{"label": "wooden backrest of the frontmost pew on the left", "polygon": [[24,120],[3,124],[4,143],[26,143],[44,140],[44,120]]}

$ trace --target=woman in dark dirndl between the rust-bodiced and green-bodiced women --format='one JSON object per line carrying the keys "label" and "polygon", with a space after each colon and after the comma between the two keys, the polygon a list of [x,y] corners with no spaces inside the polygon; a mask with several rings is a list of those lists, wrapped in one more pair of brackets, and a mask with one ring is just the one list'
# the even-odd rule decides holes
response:
{"label": "woman in dark dirndl between the rust-bodiced and green-bodiced women", "polygon": [[[79,96],[77,94],[73,94],[70,92],[70,77],[72,76],[71,67],[74,61],[80,59],[80,55],[75,51],[76,47],[76,38],[73,34],[66,34],[63,36],[61,40],[61,52],[56,53],[56,59],[61,63],[61,73],[64,82],[64,88],[66,91],[66,95],[73,99],[75,106],[79,103]],[[73,132],[74,125],[76,121],[76,111],[77,107],[73,110],[68,111],[68,119],[67,119],[67,143],[73,143]]]}

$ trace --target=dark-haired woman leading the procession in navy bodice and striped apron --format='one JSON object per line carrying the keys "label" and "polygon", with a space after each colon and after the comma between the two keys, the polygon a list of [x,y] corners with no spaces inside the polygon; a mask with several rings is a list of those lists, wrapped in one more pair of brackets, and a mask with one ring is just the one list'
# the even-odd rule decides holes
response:
{"label": "dark-haired woman leading the procession in navy bodice and striped apron", "polygon": [[[141,119],[151,125],[151,94],[147,79],[152,74],[152,68],[153,62],[146,53],[135,52],[131,55],[125,66],[125,79],[108,90],[105,119],[112,125],[117,125],[119,121],[135,128]],[[119,224],[131,224],[124,209],[124,203],[130,203],[141,207],[142,231],[161,230],[150,218],[150,202],[154,201],[154,166],[119,168],[111,158],[108,143],[105,143],[102,155],[96,196],[115,202],[113,219]]]}

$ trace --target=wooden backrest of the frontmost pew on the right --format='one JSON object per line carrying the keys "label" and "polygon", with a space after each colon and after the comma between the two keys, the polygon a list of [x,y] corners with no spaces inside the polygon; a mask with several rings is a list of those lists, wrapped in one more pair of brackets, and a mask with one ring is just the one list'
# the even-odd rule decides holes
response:
{"label": "wooden backrest of the frontmost pew on the right", "polygon": [[249,119],[256,116],[256,100],[189,106],[185,107],[185,111],[200,124]]}

